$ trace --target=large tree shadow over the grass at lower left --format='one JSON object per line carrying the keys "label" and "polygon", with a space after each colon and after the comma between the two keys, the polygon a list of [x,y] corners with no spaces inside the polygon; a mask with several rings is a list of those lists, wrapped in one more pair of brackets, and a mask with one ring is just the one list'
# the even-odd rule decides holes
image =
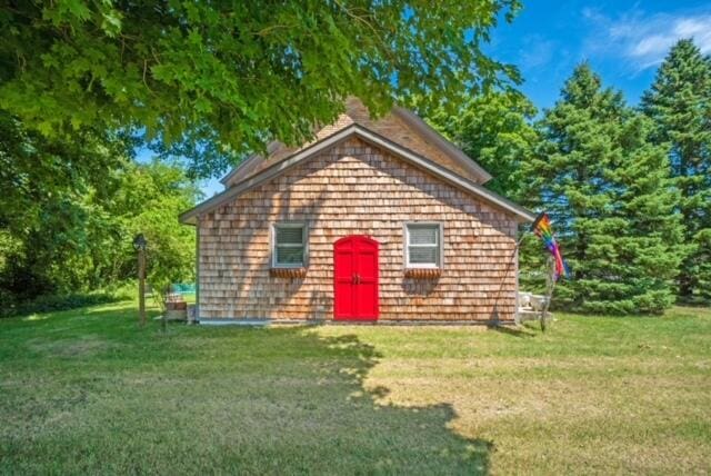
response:
{"label": "large tree shadow over the grass at lower left", "polygon": [[[177,326],[157,338],[158,324],[139,330],[114,310],[40,323],[61,338],[42,348],[16,333],[4,354],[31,365],[0,371],[0,473],[489,473],[491,442],[449,429],[450,405],[378,403],[389,390],[363,379],[382,356],[356,335]],[[122,345],[62,350],[87,330]]]}

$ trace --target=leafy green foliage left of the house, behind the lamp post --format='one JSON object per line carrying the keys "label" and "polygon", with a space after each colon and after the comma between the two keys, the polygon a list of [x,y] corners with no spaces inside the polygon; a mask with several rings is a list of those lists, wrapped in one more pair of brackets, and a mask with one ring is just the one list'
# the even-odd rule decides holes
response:
{"label": "leafy green foliage left of the house, behind the lamp post", "polygon": [[152,238],[152,277],[190,279],[193,230],[177,216],[194,204],[194,185],[179,167],[126,159],[130,146],[86,129],[73,141],[50,140],[0,116],[3,311],[134,277],[138,231]]}

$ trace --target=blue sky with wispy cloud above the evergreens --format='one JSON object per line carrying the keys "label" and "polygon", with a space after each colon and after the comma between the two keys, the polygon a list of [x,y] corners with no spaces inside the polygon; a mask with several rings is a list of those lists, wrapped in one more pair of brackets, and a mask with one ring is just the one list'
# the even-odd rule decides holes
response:
{"label": "blue sky with wispy cloud above the evergreens", "polygon": [[[520,68],[521,90],[539,109],[553,106],[583,60],[638,103],[677,40],[694,38],[711,54],[711,0],[523,1],[515,20],[493,31],[487,51]],[[147,158],[147,151],[139,153],[139,160]],[[222,186],[213,179],[202,190],[210,197]]]}

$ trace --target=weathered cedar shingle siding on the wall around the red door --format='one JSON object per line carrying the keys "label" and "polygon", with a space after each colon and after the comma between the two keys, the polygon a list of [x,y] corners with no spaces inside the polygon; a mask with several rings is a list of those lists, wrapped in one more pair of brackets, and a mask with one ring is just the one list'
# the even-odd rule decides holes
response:
{"label": "weathered cedar shingle siding on the wall around the red door", "polygon": [[[387,128],[373,130],[391,136]],[[398,139],[423,155],[431,148]],[[279,221],[308,225],[303,278],[270,274],[271,226]],[[405,277],[410,221],[442,224],[439,278]],[[499,317],[514,317],[515,217],[358,138],[203,214],[198,227],[200,318],[332,319],[333,242],[348,235],[380,242],[381,321],[490,320],[500,288]]]}

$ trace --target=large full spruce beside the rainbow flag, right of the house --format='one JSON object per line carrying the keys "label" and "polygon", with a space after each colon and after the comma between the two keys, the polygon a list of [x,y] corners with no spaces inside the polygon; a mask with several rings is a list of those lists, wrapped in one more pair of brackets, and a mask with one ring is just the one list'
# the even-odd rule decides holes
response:
{"label": "large full spruce beside the rainbow flag, right of the house", "polygon": [[559,303],[615,314],[668,307],[681,229],[665,151],[648,143],[649,122],[581,65],[540,127],[543,140],[523,175],[527,201],[550,212],[573,270]]}

